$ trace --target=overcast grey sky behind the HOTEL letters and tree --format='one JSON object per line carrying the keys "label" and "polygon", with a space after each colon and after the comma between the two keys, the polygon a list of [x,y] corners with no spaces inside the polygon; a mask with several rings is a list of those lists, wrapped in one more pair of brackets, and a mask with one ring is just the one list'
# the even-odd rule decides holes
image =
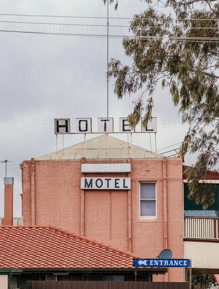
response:
{"label": "overcast grey sky behind the HOTEL letters and tree", "polygon": [[[139,0],[119,2],[118,12],[109,7],[110,25],[127,26],[128,19],[147,5]],[[0,160],[11,160],[8,177],[14,177],[14,217],[21,215],[21,171],[19,164],[55,151],[54,118],[71,118],[72,132],[76,117],[92,117],[93,130],[97,118],[107,112],[107,40],[86,34],[105,35],[107,7],[101,0],[93,1],[1,1],[1,14],[83,16],[94,18],[59,18],[0,15]],[[119,17],[119,19],[118,19]],[[24,23],[27,22],[27,23]],[[34,24],[37,23],[59,23]],[[33,23],[33,24],[31,24]],[[75,24],[61,25],[61,24]],[[98,24],[98,27],[92,26]],[[71,28],[70,28],[71,27]],[[72,33],[83,36],[24,34],[28,32]],[[128,27],[110,27],[109,34],[126,35]],[[131,60],[124,54],[122,39],[109,38],[109,58],[123,64]],[[109,117],[114,118],[118,131],[119,117],[126,117],[136,96],[117,100],[113,93],[114,80],[109,85]],[[146,103],[146,99],[145,99]],[[169,90],[158,88],[154,95],[153,116],[158,118],[157,149],[181,142],[188,127],[182,126],[173,107]],[[87,136],[91,138],[93,136]],[[115,137],[127,141],[127,135]],[[154,136],[152,136],[152,150]],[[64,147],[83,141],[82,135],[64,135]],[[148,134],[135,134],[133,144],[150,149]],[[177,148],[175,146],[175,148]],[[62,136],[58,136],[62,148]],[[186,162],[194,162],[190,156]],[[5,164],[0,164],[0,216],[3,216]]]}

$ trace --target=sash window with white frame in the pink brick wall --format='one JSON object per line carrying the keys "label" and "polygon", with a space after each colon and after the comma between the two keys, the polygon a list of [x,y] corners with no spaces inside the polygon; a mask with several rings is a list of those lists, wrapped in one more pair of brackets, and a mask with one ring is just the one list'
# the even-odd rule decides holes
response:
{"label": "sash window with white frame in the pink brick wall", "polygon": [[156,218],[156,183],[140,183],[140,218]]}

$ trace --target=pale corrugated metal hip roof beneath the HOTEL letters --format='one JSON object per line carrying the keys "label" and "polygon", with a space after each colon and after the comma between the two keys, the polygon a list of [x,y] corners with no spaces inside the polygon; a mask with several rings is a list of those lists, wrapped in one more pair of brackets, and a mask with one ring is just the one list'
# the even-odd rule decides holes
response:
{"label": "pale corrugated metal hip roof beneath the HOTEL letters", "polygon": [[[86,141],[86,159],[107,159],[107,151],[109,159],[130,158],[130,143],[108,135],[101,135]],[[35,160],[80,160],[84,156],[84,142],[81,142],[58,151],[58,156],[56,152],[53,152]],[[157,154],[157,157],[163,157],[163,155]],[[132,158],[156,158],[156,153],[132,144]]]}

